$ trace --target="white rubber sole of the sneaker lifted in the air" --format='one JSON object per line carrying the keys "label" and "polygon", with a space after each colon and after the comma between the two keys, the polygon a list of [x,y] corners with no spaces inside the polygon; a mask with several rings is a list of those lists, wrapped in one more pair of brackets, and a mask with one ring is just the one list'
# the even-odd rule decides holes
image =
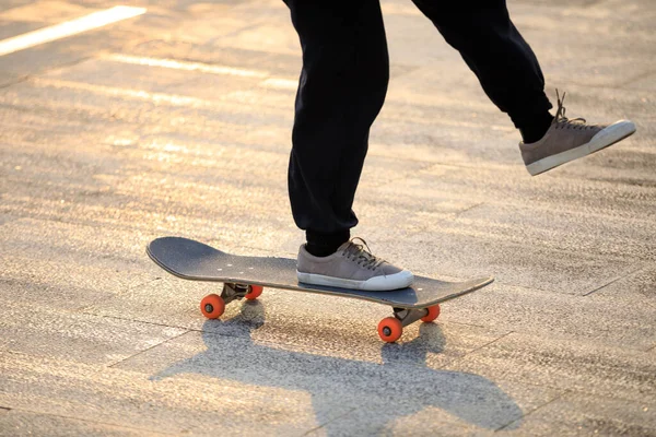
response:
{"label": "white rubber sole of the sneaker lifted in the air", "polygon": [[536,161],[526,166],[528,173],[531,176],[539,175],[550,170],[553,167],[569,163],[570,161],[578,160],[591,153],[598,152],[601,149],[606,149],[609,145],[617,143],[625,139],[626,137],[635,132],[635,125],[629,120],[620,120],[610,125],[606,129],[599,131],[589,142],[579,145],[578,147],[571,149],[565,152],[558,153],[555,155],[543,157],[540,161]]}

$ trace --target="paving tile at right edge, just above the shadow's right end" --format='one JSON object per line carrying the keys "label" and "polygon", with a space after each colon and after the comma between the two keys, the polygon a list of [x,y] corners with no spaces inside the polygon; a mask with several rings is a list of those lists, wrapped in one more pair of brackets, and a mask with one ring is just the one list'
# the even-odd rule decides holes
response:
{"label": "paving tile at right edge, just above the shadow's right end", "polygon": [[653,403],[654,359],[646,352],[512,333],[445,366],[487,378]]}

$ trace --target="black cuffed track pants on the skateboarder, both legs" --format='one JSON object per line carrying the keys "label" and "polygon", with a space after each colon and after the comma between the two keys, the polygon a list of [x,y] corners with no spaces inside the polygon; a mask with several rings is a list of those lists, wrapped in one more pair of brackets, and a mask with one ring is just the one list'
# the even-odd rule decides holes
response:
{"label": "black cuffed track pants on the skateboarder, both legs", "polygon": [[[505,0],[413,0],[457,49],[492,102],[516,127],[551,108],[538,60]],[[343,233],[370,128],[385,101],[389,59],[378,0],[285,0],[301,38],[289,190],[296,225]]]}

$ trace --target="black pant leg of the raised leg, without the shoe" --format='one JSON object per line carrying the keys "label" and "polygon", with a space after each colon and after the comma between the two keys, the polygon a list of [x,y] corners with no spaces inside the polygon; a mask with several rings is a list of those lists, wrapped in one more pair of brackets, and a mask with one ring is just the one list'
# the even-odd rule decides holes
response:
{"label": "black pant leg of the raised leg, without the shoe", "polygon": [[530,125],[551,108],[538,59],[511,21],[505,0],[412,1],[460,52],[515,127]]}

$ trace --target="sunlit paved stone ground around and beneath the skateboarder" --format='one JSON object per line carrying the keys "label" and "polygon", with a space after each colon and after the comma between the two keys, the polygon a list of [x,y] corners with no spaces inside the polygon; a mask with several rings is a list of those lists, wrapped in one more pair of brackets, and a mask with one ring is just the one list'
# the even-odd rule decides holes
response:
{"label": "sunlit paved stone ground around and beneath the skateboarder", "polygon": [[[115,5],[0,3],[0,39]],[[148,259],[163,235],[294,256],[300,48],[278,0],[133,5],[0,57],[0,435],[656,435],[652,0],[511,1],[569,115],[639,127],[537,178],[458,55],[384,1],[355,233],[497,279],[398,344],[383,306],[274,290],[206,321],[216,287]]]}

